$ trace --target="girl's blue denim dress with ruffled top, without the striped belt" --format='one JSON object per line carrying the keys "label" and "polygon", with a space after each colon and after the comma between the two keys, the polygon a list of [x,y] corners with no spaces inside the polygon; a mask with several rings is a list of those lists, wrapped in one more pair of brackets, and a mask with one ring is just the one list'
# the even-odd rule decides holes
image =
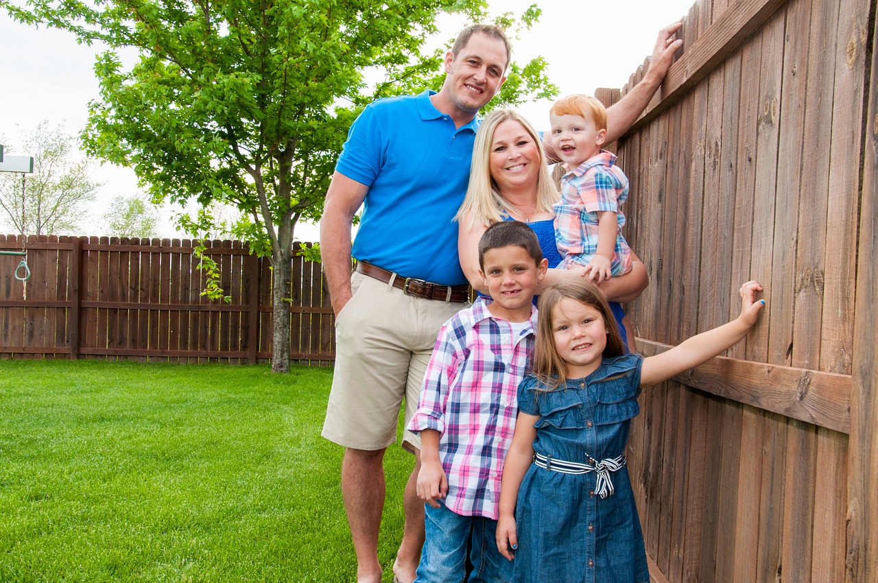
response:
{"label": "girl's blue denim dress with ruffled top, without the striped belt", "polygon": [[[605,358],[587,378],[547,391],[533,375],[518,388],[519,411],[536,415],[535,453],[589,464],[622,456],[640,411],[637,354]],[[550,460],[551,465],[551,460]],[[520,583],[649,581],[644,536],[627,466],[611,471],[615,492],[601,498],[597,474],[569,474],[531,464],[515,508]]]}

